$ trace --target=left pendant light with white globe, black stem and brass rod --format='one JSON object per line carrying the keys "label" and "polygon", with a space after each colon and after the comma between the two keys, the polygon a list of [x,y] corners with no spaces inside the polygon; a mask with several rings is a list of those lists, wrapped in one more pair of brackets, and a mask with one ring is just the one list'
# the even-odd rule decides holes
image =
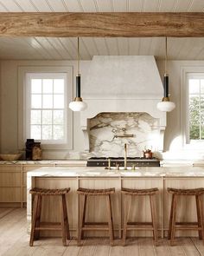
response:
{"label": "left pendant light with white globe, black stem and brass rod", "polygon": [[80,38],[77,37],[77,52],[78,52],[78,62],[77,62],[77,76],[76,76],[76,97],[73,102],[69,103],[69,108],[73,111],[83,111],[87,108],[86,102],[83,102],[80,96]]}

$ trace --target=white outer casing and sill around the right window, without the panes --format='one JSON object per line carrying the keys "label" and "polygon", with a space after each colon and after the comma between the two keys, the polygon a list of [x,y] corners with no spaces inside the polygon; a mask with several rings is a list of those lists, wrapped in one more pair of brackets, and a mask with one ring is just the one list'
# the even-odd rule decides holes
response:
{"label": "white outer casing and sill around the right window, without the panes", "polygon": [[181,68],[181,135],[183,149],[200,151],[204,149],[204,140],[190,140],[189,138],[188,78],[196,75],[204,75],[204,66]]}

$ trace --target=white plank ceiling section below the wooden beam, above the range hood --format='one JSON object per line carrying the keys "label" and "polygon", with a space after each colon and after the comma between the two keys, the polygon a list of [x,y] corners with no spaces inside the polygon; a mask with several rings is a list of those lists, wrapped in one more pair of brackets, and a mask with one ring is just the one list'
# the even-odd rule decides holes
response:
{"label": "white plank ceiling section below the wooden beam, above the range hood", "polygon": [[[82,37],[80,59],[92,56],[155,56],[165,58],[164,37]],[[168,38],[169,60],[204,60],[204,37]],[[0,37],[0,59],[76,60],[77,39]]]}

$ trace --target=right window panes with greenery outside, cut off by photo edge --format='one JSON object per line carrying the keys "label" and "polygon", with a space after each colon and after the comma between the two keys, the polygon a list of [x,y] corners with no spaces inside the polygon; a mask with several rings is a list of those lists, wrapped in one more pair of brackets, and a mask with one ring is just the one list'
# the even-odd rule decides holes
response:
{"label": "right window panes with greenery outside, cut off by photo edge", "polygon": [[188,74],[188,141],[204,140],[204,74]]}

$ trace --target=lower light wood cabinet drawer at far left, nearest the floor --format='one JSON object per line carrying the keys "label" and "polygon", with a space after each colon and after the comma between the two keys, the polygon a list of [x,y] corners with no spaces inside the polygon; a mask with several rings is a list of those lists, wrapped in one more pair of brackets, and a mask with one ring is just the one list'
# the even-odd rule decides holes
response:
{"label": "lower light wood cabinet drawer at far left, nearest the floor", "polygon": [[0,202],[21,202],[21,187],[0,187]]}

